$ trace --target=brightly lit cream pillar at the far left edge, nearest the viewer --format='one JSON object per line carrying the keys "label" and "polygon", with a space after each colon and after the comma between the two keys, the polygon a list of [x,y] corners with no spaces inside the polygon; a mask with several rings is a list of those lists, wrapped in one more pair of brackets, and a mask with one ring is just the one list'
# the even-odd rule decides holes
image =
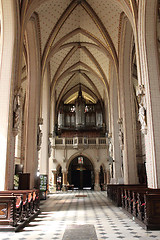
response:
{"label": "brightly lit cream pillar at the far left edge, nearest the viewer", "polygon": [[13,188],[14,175],[14,136],[12,133],[13,88],[15,80],[18,28],[16,1],[0,1],[2,7],[2,51],[0,71],[0,190]]}

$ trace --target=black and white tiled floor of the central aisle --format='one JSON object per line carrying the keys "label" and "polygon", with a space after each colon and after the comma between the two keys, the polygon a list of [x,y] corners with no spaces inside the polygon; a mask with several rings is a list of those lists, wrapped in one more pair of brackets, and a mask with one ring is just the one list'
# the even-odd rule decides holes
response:
{"label": "black and white tiled floor of the central aisle", "polygon": [[[79,197],[77,195],[80,195]],[[84,195],[84,196],[82,196]],[[97,239],[160,239],[160,231],[146,231],[115,207],[106,192],[73,191],[49,195],[41,214],[21,232],[0,233],[1,240],[62,240],[70,225],[94,226]],[[77,240],[68,238],[68,240]],[[84,239],[84,238],[83,238]],[[92,240],[92,238],[86,240]]]}

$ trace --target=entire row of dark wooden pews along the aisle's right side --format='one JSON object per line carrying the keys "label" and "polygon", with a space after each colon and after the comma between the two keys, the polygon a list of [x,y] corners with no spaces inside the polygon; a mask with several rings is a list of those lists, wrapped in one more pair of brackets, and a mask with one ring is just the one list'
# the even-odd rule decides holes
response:
{"label": "entire row of dark wooden pews along the aisle's right side", "polygon": [[107,195],[146,229],[160,229],[160,189],[143,185],[108,185]]}

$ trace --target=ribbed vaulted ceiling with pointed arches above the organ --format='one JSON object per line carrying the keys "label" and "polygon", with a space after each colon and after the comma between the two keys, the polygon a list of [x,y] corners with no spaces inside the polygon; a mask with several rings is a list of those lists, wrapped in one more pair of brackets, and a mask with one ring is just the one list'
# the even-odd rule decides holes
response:
{"label": "ribbed vaulted ceiling with pointed arches above the organ", "polygon": [[118,69],[121,14],[130,0],[32,0],[38,18],[42,75],[49,64],[51,94],[72,102],[81,83],[91,102],[109,91],[110,66]]}

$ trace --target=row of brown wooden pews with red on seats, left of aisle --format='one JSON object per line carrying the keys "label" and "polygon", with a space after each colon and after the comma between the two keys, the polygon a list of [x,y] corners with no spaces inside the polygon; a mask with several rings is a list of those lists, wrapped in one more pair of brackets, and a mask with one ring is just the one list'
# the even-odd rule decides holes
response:
{"label": "row of brown wooden pews with red on seats, left of aisle", "polygon": [[18,231],[40,212],[39,190],[0,191],[0,231]]}

